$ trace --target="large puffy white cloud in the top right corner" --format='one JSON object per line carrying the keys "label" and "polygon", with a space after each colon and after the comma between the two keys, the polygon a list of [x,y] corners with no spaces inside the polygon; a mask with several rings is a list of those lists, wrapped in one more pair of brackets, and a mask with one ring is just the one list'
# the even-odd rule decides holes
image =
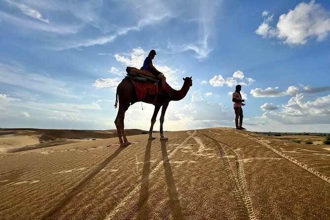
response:
{"label": "large puffy white cloud in the top right corner", "polygon": [[330,12],[321,4],[315,3],[315,0],[309,3],[301,2],[287,14],[282,14],[276,28],[269,25],[272,20],[273,15],[265,19],[256,33],[262,37],[277,37],[292,45],[306,44],[312,37],[321,41],[330,31]]}

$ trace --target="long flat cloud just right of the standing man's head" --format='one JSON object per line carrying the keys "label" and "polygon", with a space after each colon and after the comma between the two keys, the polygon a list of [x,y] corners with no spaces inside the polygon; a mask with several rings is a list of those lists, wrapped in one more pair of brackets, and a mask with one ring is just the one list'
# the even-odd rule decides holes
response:
{"label": "long flat cloud just right of the standing man's head", "polygon": [[289,86],[288,89],[284,92],[279,90],[279,87],[268,87],[266,89],[251,89],[251,95],[254,97],[280,97],[280,96],[287,96],[287,95],[295,95],[300,93],[300,90],[296,86]]}

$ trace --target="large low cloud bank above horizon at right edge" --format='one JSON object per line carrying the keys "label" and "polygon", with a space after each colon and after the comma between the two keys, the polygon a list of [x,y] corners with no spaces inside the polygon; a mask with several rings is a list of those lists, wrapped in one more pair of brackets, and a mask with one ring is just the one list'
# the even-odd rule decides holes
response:
{"label": "large low cloud bank above horizon at right edge", "polygon": [[262,117],[283,124],[329,124],[330,95],[308,100],[303,94],[297,94],[282,106],[282,111],[267,111]]}

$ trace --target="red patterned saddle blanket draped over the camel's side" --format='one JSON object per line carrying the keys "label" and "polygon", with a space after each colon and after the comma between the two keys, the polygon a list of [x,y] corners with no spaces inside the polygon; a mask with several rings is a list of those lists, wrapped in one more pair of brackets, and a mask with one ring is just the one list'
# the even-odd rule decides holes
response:
{"label": "red patterned saddle blanket draped over the camel's side", "polygon": [[[151,82],[151,81],[136,81],[132,78],[128,78],[135,91],[135,96],[131,102],[131,105],[133,105],[136,102],[143,101],[146,98],[149,98],[150,96],[155,96],[157,94],[157,87],[158,87],[158,94],[157,95],[163,95],[162,86],[159,82]],[[155,83],[159,83],[158,86]],[[165,91],[169,97],[172,97],[172,91],[171,86],[166,83]]]}

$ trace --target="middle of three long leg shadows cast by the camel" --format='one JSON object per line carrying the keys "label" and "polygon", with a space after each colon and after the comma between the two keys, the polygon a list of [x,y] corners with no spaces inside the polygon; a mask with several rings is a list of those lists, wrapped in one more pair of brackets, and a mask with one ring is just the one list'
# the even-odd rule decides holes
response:
{"label": "middle of three long leg shadows cast by the camel", "polygon": [[152,140],[148,140],[148,144],[146,147],[145,159],[143,164],[142,178],[141,178],[141,188],[140,188],[140,196],[138,207],[140,210],[138,212],[137,219],[144,220],[147,218],[148,214],[148,204],[147,200],[149,197],[149,175],[150,175],[150,151],[151,151],[151,142]]}

